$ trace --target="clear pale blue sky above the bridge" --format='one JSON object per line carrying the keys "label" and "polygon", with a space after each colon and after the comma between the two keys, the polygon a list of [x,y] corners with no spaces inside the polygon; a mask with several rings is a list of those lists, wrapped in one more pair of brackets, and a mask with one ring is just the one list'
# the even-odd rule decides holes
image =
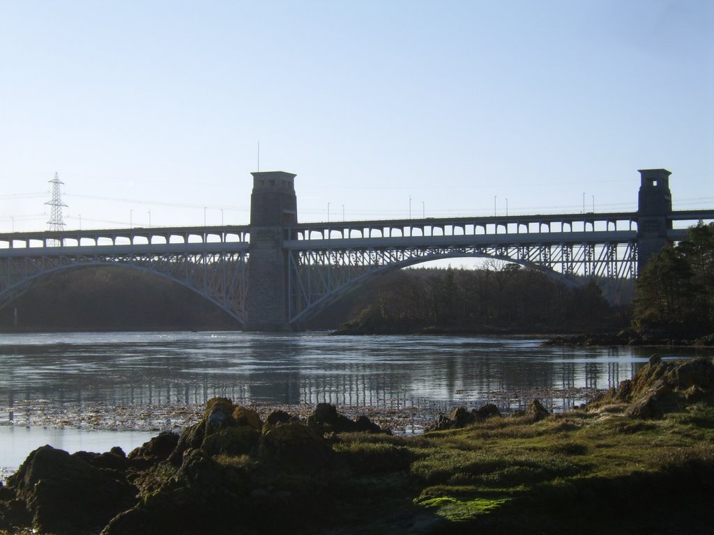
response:
{"label": "clear pale blue sky above the bridge", "polygon": [[0,232],[714,208],[710,0],[0,0]]}

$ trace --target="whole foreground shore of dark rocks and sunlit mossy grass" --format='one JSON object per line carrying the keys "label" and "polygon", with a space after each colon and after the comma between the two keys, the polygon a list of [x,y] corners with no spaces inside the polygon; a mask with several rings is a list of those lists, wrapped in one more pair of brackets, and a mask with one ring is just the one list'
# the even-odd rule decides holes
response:
{"label": "whole foreground shore of dark rocks and sunlit mossy grass", "polygon": [[0,530],[710,533],[710,360],[653,358],[562,414],[481,407],[437,427],[406,437],[329,405],[262,418],[213,399],[180,435],[128,456],[37,450],[0,489]]}

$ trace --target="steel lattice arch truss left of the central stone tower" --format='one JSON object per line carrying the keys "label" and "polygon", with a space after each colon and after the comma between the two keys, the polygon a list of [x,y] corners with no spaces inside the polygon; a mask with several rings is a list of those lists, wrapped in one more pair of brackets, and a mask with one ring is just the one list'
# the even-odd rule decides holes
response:
{"label": "steel lattice arch truss left of the central stone tower", "polygon": [[246,319],[246,252],[139,255],[46,255],[0,258],[0,308],[23,292],[31,280],[51,272],[87,265],[125,265],[168,277],[211,300],[241,323]]}

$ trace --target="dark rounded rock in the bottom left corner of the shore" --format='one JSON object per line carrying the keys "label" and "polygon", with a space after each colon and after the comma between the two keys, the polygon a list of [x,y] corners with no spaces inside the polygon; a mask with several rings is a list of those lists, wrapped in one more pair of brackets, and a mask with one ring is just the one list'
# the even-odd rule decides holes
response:
{"label": "dark rounded rock in the bottom left corner of the shore", "polygon": [[115,470],[50,446],[31,452],[8,485],[24,500],[34,529],[59,535],[99,531],[136,503],[136,487]]}

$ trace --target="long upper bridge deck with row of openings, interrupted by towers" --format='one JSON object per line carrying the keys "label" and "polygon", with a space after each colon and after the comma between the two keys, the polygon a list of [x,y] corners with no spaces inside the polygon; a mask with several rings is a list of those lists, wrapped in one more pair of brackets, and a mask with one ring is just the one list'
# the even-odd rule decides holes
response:
{"label": "long upper bridge deck with row of openings, interrupted by towers", "polygon": [[[714,210],[679,210],[668,215],[670,239],[681,240]],[[296,223],[285,228],[287,249],[420,247],[465,243],[623,243],[635,238],[636,212],[502,215]],[[206,253],[247,250],[249,225],[62,230],[1,233],[0,256]],[[327,245],[329,243],[329,245]]]}

